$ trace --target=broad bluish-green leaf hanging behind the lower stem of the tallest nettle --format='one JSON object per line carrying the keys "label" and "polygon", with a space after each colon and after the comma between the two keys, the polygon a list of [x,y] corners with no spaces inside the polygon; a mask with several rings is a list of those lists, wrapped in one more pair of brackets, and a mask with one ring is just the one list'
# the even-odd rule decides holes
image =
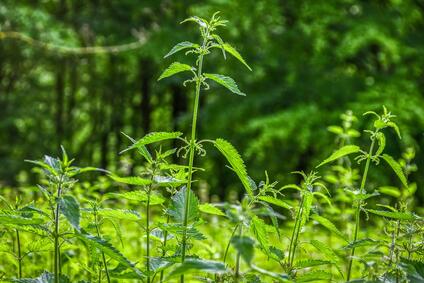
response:
{"label": "broad bluish-green leaf hanging behind the lower stem of the tallest nettle", "polygon": [[[171,215],[176,222],[184,221],[186,206],[186,187],[182,187],[175,195],[172,196],[171,206],[168,214]],[[194,222],[199,218],[199,200],[192,191],[189,193],[187,222]]]}

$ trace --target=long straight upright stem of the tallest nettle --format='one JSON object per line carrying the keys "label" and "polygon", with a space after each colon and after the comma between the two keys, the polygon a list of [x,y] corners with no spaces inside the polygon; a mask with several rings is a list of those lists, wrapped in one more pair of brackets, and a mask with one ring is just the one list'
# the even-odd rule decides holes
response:
{"label": "long straight upright stem of the tallest nettle", "polygon": [[[208,34],[203,39],[202,52],[206,48]],[[191,123],[191,138],[190,138],[190,155],[188,161],[188,181],[187,189],[185,194],[185,207],[184,207],[184,232],[182,237],[182,251],[181,251],[181,262],[185,261],[185,253],[187,247],[187,224],[188,224],[188,213],[189,213],[189,203],[190,203],[190,191],[191,191],[191,182],[193,178],[193,161],[194,161],[194,149],[196,143],[196,126],[197,126],[197,112],[199,109],[199,97],[200,97],[200,87],[201,87],[201,76],[202,76],[202,67],[203,67],[203,53],[199,55],[199,65],[197,69],[197,81],[196,81],[196,95],[194,98],[193,105],[193,118]],[[181,283],[184,282],[184,275],[181,275]]]}

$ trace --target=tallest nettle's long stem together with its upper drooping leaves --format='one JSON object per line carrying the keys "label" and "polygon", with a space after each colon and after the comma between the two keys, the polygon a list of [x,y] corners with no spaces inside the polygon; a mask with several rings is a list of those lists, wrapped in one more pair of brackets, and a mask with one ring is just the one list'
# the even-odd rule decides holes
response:
{"label": "tallest nettle's long stem together with its upper drooping leaves", "polygon": [[[187,225],[188,225],[188,215],[189,209],[190,209],[190,197],[191,197],[191,186],[193,181],[193,165],[194,165],[194,155],[196,149],[200,152],[202,152],[201,142],[197,142],[196,140],[196,129],[197,129],[197,116],[199,111],[199,99],[200,99],[200,93],[203,88],[203,90],[209,89],[209,85],[207,83],[207,80],[215,81],[216,83],[226,87],[231,92],[238,94],[238,95],[245,95],[242,93],[239,88],[237,87],[237,84],[235,81],[228,77],[221,74],[211,74],[211,73],[205,73],[203,71],[203,63],[205,57],[210,54],[211,50],[214,48],[221,49],[224,57],[226,56],[226,53],[229,53],[233,55],[235,58],[237,58],[240,62],[242,62],[249,70],[250,67],[247,65],[247,63],[244,61],[244,59],[241,57],[241,55],[238,53],[238,51],[229,45],[228,43],[225,43],[222,38],[216,33],[217,28],[221,26],[225,26],[227,21],[221,20],[218,16],[218,13],[215,13],[212,18],[207,21],[205,19],[199,18],[199,17],[190,17],[186,20],[184,20],[182,23],[185,22],[194,22],[199,26],[200,34],[202,37],[201,43],[191,43],[191,42],[181,42],[175,45],[171,51],[165,55],[165,58],[168,56],[171,56],[181,50],[187,50],[187,54],[194,54],[197,56],[197,59],[195,61],[195,66],[190,66],[187,64],[182,64],[179,62],[172,63],[159,77],[158,80],[161,80],[166,77],[170,77],[176,73],[180,72],[191,72],[193,74],[193,77],[189,80],[186,80],[184,82],[184,85],[187,83],[194,83],[195,84],[195,96],[194,96],[194,104],[193,104],[193,116],[192,116],[192,123],[191,123],[191,136],[190,140],[187,142],[186,150],[188,151],[188,181],[187,181],[187,188],[185,190],[185,207],[184,207],[184,217],[183,217],[183,237],[182,237],[182,247],[181,247],[181,261],[184,262],[186,259],[186,250],[187,250]],[[184,282],[184,275],[181,276],[181,282]]]}

